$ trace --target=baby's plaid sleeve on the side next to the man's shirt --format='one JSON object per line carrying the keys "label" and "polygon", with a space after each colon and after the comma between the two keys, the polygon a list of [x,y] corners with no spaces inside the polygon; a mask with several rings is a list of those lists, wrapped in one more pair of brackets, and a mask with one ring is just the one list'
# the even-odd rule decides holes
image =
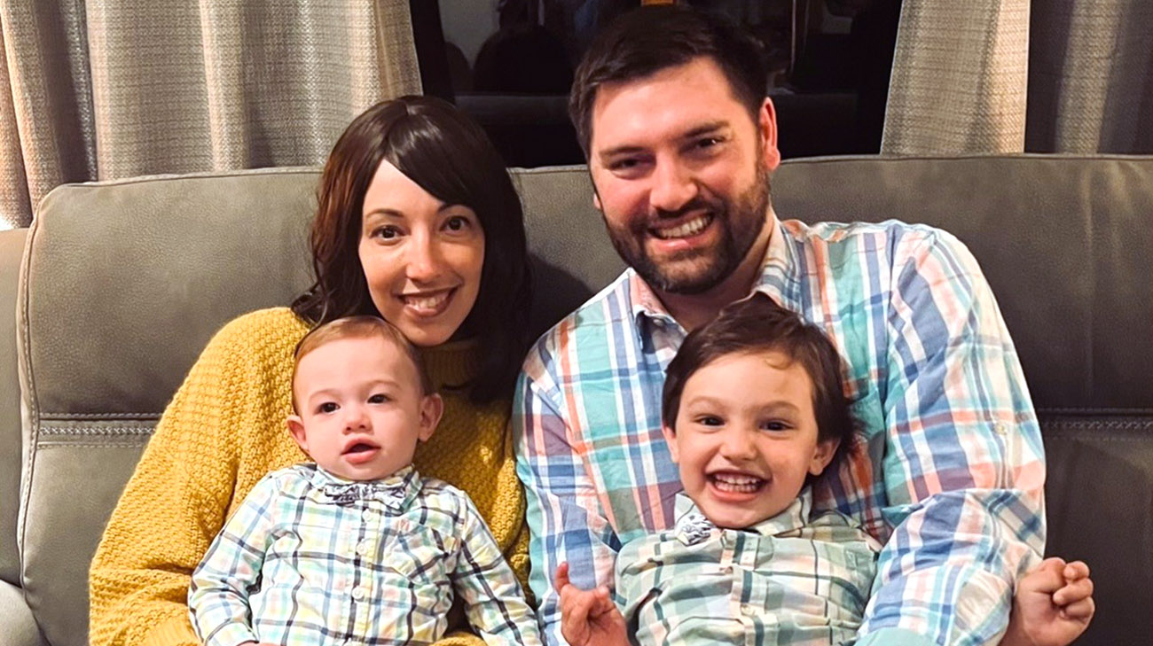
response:
{"label": "baby's plaid sleeve on the side next to the man's shirt", "polygon": [[469,623],[490,645],[540,646],[536,614],[525,600],[517,575],[473,501],[464,492],[459,495],[457,535],[462,544],[452,582]]}

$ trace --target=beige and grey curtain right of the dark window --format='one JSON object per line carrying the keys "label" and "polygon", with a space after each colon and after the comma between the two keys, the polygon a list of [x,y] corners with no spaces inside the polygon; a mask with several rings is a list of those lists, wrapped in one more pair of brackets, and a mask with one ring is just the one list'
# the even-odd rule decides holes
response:
{"label": "beige and grey curtain right of the dark window", "polygon": [[1153,152],[1150,0],[904,0],[881,151]]}

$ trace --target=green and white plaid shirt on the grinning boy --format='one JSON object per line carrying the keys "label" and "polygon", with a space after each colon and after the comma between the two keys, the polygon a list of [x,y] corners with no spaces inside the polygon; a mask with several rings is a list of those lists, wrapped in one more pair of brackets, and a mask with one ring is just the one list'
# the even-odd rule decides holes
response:
{"label": "green and white plaid shirt on the grinning boy", "polygon": [[684,494],[672,531],[617,556],[621,613],[642,646],[830,646],[860,626],[881,548],[836,511],[809,517],[806,488],[746,530],[713,525]]}

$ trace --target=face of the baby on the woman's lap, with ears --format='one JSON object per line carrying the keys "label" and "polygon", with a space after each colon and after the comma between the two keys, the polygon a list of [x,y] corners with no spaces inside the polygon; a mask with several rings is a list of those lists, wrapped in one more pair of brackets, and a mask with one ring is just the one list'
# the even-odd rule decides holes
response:
{"label": "face of the baby on the woman's lap, with ears", "polygon": [[416,366],[382,337],[338,339],[304,355],[288,430],[316,464],[349,480],[384,478],[432,435],[440,397],[421,394]]}

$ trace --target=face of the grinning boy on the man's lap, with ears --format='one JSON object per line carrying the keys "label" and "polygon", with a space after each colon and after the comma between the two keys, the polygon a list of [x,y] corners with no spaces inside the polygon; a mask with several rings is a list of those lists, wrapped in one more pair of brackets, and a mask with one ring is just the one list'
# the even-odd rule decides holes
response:
{"label": "face of the grinning boy on the man's lap, with ears", "polygon": [[719,527],[776,516],[836,449],[817,442],[813,380],[777,352],[725,355],[685,382],[677,427],[665,427],[680,481]]}

